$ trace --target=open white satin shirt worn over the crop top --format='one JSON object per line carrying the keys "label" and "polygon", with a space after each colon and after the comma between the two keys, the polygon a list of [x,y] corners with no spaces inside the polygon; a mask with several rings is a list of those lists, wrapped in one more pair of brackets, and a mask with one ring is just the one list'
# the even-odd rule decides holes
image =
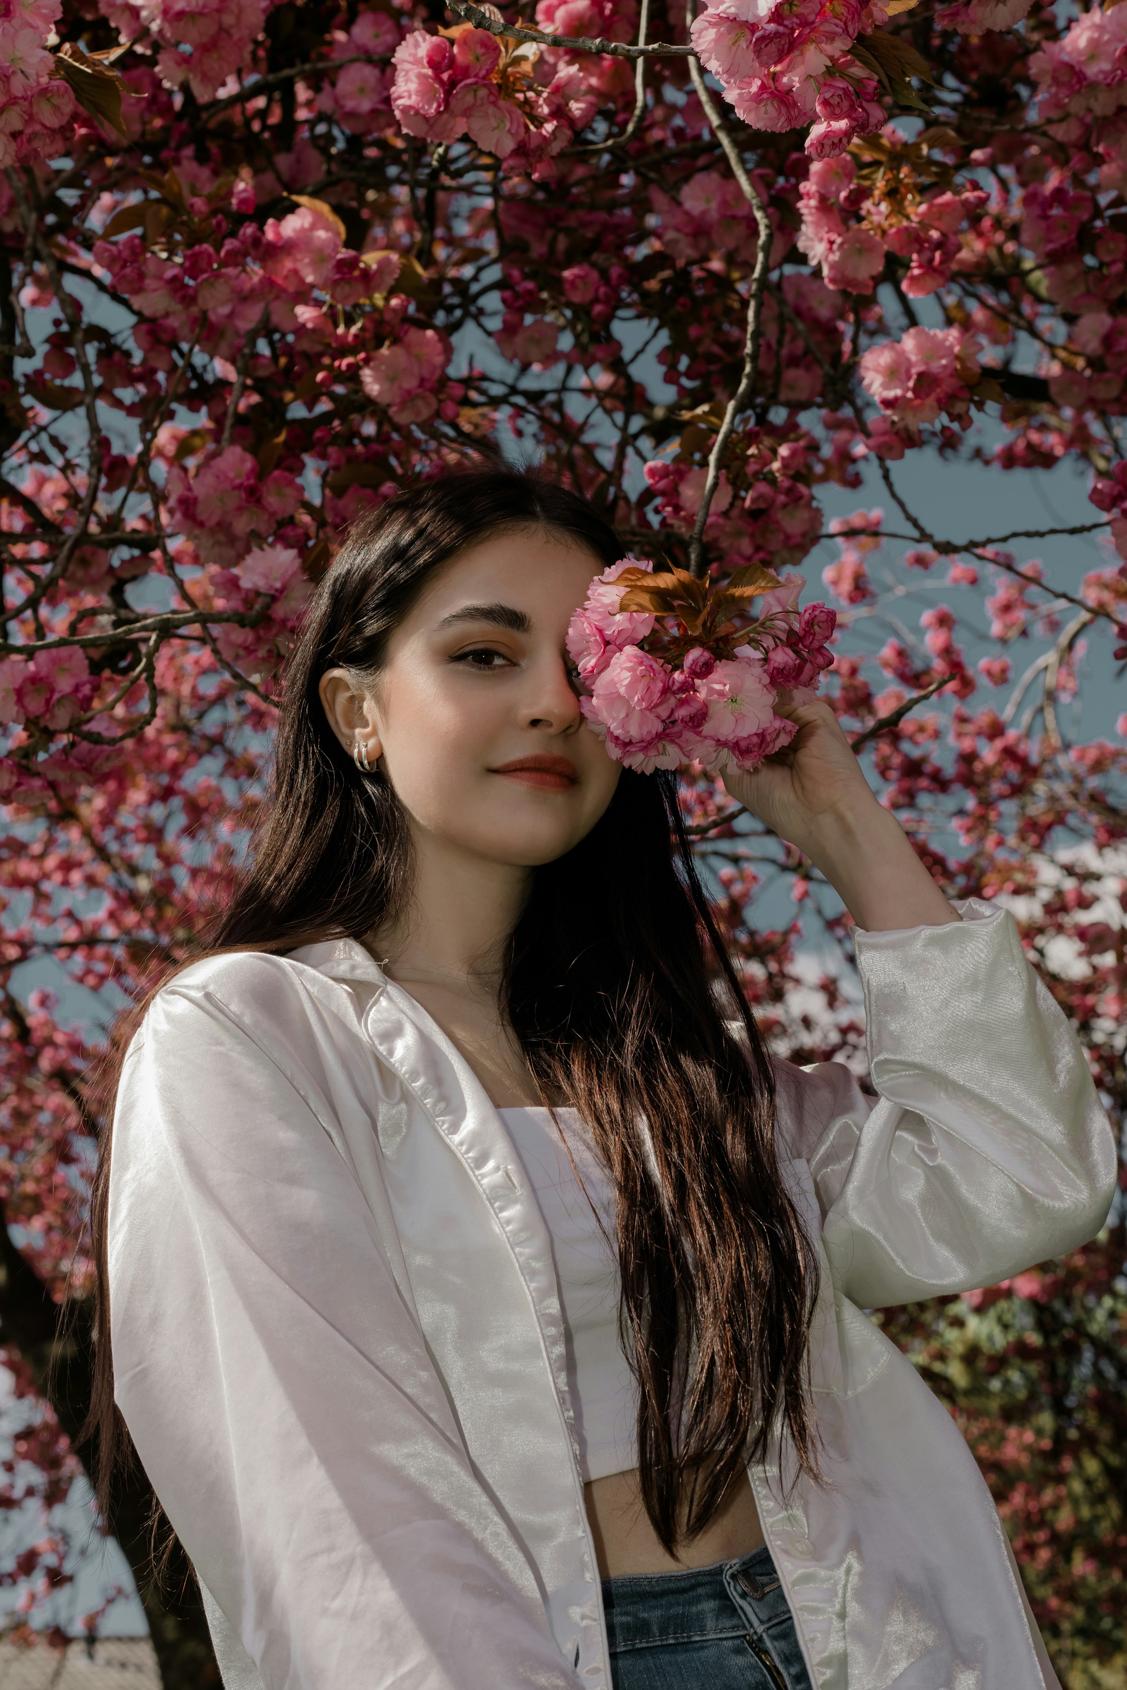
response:
{"label": "open white satin shirt worn over the crop top", "polygon": [[[862,1313],[1070,1251],[1112,1200],[1071,1029],[1010,916],[958,908],[857,935],[875,1098],[779,1065],[825,1484],[749,1477],[816,1690],[1056,1685],[965,1442]],[[610,1690],[544,1218],[360,945],[211,958],[154,1000],[110,1286],[117,1398],[226,1690]]]}

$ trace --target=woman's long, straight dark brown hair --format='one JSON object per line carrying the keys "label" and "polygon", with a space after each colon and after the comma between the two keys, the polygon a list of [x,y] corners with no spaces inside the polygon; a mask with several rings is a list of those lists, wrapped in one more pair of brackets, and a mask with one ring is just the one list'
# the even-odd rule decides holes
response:
{"label": "woman's long, straight dark brown hair", "polygon": [[[576,493],[493,468],[407,488],[353,529],[292,654],[272,803],[213,950],[362,940],[402,908],[406,815],[390,784],[341,749],[318,681],[338,666],[372,679],[431,573],[515,527],[549,529],[602,564],[623,554]],[[674,1551],[772,1431],[789,1433],[803,1469],[818,1465],[806,1377],[816,1262],[781,1176],[770,1060],[698,879],[674,776],[623,771],[588,837],[536,870],[502,995],[541,1095],[580,1112],[613,1178],[642,1499]],[[106,1126],[88,1423],[103,1511],[128,1447],[113,1403],[108,1171]]]}

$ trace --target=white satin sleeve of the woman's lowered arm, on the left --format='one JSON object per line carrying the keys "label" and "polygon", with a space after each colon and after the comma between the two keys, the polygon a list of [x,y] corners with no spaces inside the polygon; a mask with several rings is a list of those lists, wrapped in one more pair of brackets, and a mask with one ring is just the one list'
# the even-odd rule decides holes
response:
{"label": "white satin sleeve of the woman's lowered arm, on the left", "polygon": [[313,1043],[282,1071],[181,982],[130,1048],[110,1308],[145,1472],[265,1690],[574,1690],[328,1131],[318,1060]]}

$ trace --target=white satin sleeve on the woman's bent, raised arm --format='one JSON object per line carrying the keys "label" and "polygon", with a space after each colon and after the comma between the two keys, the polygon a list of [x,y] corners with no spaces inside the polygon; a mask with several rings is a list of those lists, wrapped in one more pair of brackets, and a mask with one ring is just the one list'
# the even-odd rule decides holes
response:
{"label": "white satin sleeve on the woman's bent, raised arm", "polygon": [[997,1284],[1105,1224],[1117,1158],[1088,1063],[1012,916],[857,933],[877,1097],[779,1066],[836,1283],[862,1308]]}

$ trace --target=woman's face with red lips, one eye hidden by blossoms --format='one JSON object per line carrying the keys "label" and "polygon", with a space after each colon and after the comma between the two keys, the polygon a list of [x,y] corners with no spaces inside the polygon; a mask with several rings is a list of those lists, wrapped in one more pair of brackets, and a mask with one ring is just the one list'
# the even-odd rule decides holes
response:
{"label": "woman's face with red lips, one eye hidden by blossoms", "polygon": [[323,676],[338,739],[380,759],[417,835],[536,867],[603,815],[620,764],[580,713],[564,647],[602,568],[541,529],[485,539],[431,578],[373,691],[353,693],[343,669]]}

